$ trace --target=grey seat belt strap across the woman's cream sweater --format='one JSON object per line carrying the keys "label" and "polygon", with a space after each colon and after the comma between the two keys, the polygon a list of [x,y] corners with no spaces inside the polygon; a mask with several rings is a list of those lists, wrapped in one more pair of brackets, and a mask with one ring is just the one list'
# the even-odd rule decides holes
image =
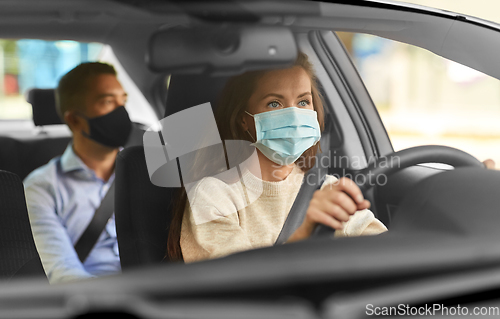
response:
{"label": "grey seat belt strap across the woman's cream sweater", "polygon": [[292,208],[288,213],[288,216],[283,224],[278,239],[276,239],[275,245],[284,244],[288,238],[302,225],[304,218],[306,217],[307,208],[309,207],[309,202],[316,190],[318,190],[326,176],[326,168],[320,168],[315,166],[307,172],[300,186],[297,197],[293,202]]}

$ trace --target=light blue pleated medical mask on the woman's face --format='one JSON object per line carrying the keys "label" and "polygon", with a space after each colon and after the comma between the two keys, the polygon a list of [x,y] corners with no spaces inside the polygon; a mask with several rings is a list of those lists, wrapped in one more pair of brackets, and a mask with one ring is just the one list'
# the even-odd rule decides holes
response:
{"label": "light blue pleated medical mask on the woman's face", "polygon": [[252,145],[278,165],[294,163],[321,138],[316,111],[287,107],[255,115],[246,113],[255,120],[257,139]]}

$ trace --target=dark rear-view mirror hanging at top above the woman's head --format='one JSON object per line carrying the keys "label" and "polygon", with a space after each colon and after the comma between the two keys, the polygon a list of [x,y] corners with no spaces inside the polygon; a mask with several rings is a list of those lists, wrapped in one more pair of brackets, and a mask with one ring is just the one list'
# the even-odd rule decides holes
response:
{"label": "dark rear-view mirror hanging at top above the woman's head", "polygon": [[297,45],[286,27],[172,28],[149,40],[146,62],[153,72],[231,75],[291,65]]}

